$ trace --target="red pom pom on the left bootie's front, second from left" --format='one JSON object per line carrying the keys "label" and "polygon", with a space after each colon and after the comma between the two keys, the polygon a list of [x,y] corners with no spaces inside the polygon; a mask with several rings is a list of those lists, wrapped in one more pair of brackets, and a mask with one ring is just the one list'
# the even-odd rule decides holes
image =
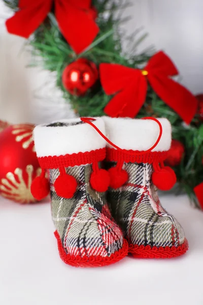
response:
{"label": "red pom pom on the left bootie's front, second from left", "polygon": [[54,189],[56,191],[56,194],[59,197],[66,199],[73,198],[77,186],[78,184],[76,178],[66,174],[58,176],[58,178],[56,178],[54,182]]}

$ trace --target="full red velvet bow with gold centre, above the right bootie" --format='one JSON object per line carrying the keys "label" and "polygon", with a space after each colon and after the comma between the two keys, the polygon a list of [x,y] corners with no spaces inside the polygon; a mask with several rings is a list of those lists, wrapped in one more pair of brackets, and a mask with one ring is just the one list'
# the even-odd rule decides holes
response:
{"label": "full red velvet bow with gold centre, above the right bootie", "polygon": [[170,78],[175,75],[178,70],[162,51],[152,56],[143,70],[101,64],[100,79],[105,93],[118,93],[105,107],[105,113],[112,117],[136,116],[145,102],[148,80],[156,94],[189,124],[197,111],[197,100]]}

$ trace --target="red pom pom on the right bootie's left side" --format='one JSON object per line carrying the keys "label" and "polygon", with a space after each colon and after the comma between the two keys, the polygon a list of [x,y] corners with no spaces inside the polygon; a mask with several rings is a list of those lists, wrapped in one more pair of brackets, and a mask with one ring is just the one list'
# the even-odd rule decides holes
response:
{"label": "red pom pom on the right bootie's left side", "polygon": [[109,169],[109,175],[110,188],[112,189],[118,189],[122,187],[128,180],[128,173],[124,169],[118,170],[116,167],[112,167]]}

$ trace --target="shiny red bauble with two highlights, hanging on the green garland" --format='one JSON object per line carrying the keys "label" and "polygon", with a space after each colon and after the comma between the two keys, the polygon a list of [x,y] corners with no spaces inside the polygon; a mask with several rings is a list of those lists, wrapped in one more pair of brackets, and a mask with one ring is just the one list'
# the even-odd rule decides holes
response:
{"label": "shiny red bauble with two highlights, hanging on the green garland", "polygon": [[98,79],[98,70],[93,62],[79,58],[67,66],[62,74],[65,89],[72,95],[83,96]]}

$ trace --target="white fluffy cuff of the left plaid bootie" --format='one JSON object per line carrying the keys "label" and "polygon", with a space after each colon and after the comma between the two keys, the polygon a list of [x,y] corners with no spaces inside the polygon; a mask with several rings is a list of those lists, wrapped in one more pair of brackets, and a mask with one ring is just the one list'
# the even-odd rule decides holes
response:
{"label": "white fluffy cuff of the left plaid bootie", "polygon": [[[80,118],[60,120],[61,123],[73,123]],[[96,118],[93,124],[103,133],[105,123]],[[39,125],[33,131],[35,148],[38,157],[61,156],[66,154],[85,153],[106,146],[106,141],[87,123],[75,126],[47,127]]]}

